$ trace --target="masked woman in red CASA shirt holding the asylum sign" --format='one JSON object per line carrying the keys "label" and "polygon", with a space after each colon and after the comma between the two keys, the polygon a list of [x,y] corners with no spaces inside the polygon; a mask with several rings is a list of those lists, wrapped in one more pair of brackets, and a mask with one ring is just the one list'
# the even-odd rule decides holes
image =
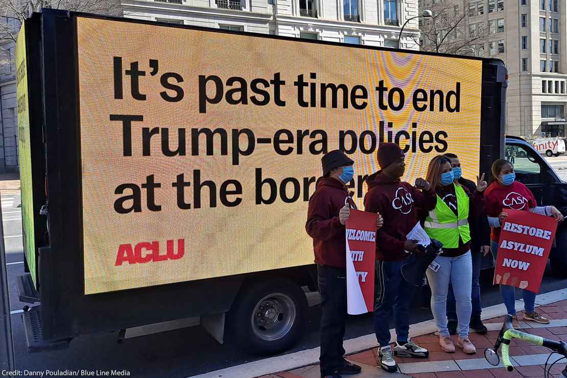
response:
{"label": "masked woman in red CASA shirt holding the asylum sign", "polygon": [[[500,227],[508,214],[506,209],[531,211],[532,213],[553,216],[557,222],[563,220],[563,215],[555,206],[538,206],[531,190],[519,181],[516,181],[514,166],[503,159],[498,159],[492,164],[492,182],[484,197],[486,199],[486,214],[488,223],[492,227],[490,234],[490,250],[494,259],[498,252],[498,240],[500,240]],[[520,289],[522,290],[522,289]],[[502,300],[506,309],[513,316],[514,327],[519,325],[515,309],[515,288],[513,286],[500,285]],[[536,294],[529,290],[522,290],[524,299],[524,320],[548,324],[549,319],[535,311]]]}

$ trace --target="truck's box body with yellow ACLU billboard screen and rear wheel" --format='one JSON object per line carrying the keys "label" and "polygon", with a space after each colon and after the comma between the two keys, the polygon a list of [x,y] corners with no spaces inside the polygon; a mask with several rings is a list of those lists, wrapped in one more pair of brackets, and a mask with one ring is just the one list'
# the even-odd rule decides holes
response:
{"label": "truck's box body with yellow ACLU billboard screen and rear wheel", "polygon": [[503,154],[499,60],[46,9],[17,61],[31,350],[188,318],[284,350],[316,290],[325,152],[354,160],[361,209],[380,142],[410,182],[437,154],[466,177]]}

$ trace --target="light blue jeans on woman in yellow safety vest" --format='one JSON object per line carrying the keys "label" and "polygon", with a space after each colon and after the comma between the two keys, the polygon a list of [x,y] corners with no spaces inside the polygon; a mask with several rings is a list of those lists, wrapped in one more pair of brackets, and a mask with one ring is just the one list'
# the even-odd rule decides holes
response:
{"label": "light blue jeans on woman in yellow safety vest", "polygon": [[435,324],[442,336],[448,336],[447,329],[447,294],[449,282],[455,294],[457,328],[460,337],[468,337],[468,325],[471,321],[471,287],[472,287],[472,259],[471,251],[458,257],[437,256],[435,262],[441,265],[434,272],[427,269],[426,274],[431,287],[431,312],[435,318]]}

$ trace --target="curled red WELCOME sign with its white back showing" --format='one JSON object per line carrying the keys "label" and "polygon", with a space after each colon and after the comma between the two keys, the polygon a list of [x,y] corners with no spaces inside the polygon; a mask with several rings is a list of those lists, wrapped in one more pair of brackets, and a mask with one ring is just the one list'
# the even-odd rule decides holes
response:
{"label": "curled red WELCOME sign with its white back showing", "polygon": [[346,303],[350,315],[374,311],[377,217],[351,209],[346,221]]}

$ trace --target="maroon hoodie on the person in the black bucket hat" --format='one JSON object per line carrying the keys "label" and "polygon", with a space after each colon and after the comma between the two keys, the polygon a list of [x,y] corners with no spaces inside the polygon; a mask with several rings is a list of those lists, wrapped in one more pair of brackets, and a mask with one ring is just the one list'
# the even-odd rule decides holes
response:
{"label": "maroon hoodie on the person in the black bucket hat", "polygon": [[352,205],[345,185],[327,177],[319,180],[309,199],[305,230],[313,238],[317,264],[346,267],[345,226],[338,221],[338,212],[345,206],[346,198]]}

